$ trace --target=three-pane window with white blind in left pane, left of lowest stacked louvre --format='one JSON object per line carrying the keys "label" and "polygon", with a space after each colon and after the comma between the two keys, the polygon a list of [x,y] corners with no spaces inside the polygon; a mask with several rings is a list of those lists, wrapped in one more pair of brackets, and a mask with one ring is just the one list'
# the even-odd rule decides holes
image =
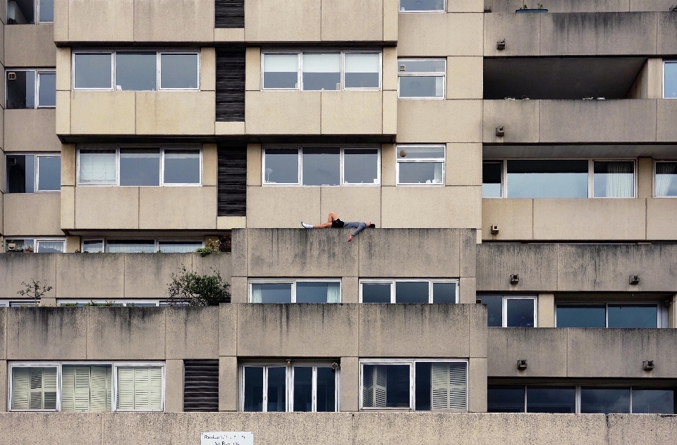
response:
{"label": "three-pane window with white blind in left pane, left of lowest stacked louvre", "polygon": [[78,149],[78,185],[157,187],[201,183],[201,149]]}

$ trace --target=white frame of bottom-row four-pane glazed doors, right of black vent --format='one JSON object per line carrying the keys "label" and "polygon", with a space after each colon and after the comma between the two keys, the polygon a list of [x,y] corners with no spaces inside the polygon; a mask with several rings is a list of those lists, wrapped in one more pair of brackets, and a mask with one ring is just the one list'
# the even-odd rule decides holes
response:
{"label": "white frame of bottom-row four-pane glazed doors, right of black vent", "polygon": [[[336,361],[338,362],[338,360]],[[265,361],[265,362],[245,362],[240,363],[239,372],[239,394],[240,402],[238,403],[238,410],[240,412],[245,412],[245,368],[264,368],[263,370],[263,401],[262,401],[262,413],[268,412],[268,368],[285,368],[286,370],[286,413],[300,413],[303,411],[294,411],[294,368],[310,368],[312,367],[312,413],[317,413],[317,368],[331,368],[331,362],[327,361],[291,361],[289,362],[275,362],[275,361]],[[334,370],[334,411],[338,413],[341,410],[341,368]]]}

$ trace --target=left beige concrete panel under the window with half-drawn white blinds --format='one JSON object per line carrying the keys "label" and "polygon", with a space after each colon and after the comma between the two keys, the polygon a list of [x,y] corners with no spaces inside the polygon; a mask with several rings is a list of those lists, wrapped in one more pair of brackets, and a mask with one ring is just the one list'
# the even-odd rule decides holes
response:
{"label": "left beige concrete panel under the window with half-drawn white blinds", "polygon": [[320,134],[321,92],[245,92],[247,134]]}

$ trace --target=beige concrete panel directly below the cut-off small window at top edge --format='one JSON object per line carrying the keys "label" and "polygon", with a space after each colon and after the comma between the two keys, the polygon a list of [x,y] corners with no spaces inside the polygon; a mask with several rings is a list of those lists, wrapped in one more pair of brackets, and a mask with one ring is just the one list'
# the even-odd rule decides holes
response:
{"label": "beige concrete panel directly below the cut-off small window at top edge", "polygon": [[400,14],[398,57],[482,56],[482,13]]}

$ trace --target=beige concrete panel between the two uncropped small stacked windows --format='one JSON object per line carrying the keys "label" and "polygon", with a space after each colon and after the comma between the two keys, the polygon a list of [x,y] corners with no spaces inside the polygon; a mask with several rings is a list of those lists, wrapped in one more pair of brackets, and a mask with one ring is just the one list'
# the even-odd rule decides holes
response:
{"label": "beige concrete panel between the two uncropped small stacked windows", "polygon": [[397,142],[482,142],[482,101],[400,100]]}

